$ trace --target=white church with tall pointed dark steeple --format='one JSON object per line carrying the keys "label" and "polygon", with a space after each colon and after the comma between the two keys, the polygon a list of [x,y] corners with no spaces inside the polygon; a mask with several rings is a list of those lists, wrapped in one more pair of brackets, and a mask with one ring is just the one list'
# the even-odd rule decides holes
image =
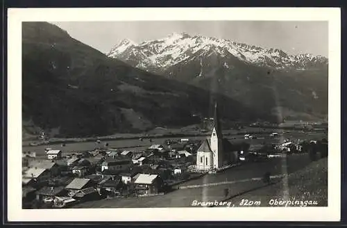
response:
{"label": "white church with tall pointed dark steeple", "polygon": [[200,171],[218,170],[228,163],[236,163],[242,147],[235,147],[223,138],[217,103],[214,104],[214,118],[210,138],[203,140],[196,154],[196,169]]}

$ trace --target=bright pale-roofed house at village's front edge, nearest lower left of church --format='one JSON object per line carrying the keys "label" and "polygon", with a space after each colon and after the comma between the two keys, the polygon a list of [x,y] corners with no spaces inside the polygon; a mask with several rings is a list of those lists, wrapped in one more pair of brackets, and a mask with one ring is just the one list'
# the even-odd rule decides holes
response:
{"label": "bright pale-roofed house at village's front edge, nearest lower left of church", "polygon": [[139,174],[134,184],[137,195],[154,195],[162,190],[163,181],[157,174]]}

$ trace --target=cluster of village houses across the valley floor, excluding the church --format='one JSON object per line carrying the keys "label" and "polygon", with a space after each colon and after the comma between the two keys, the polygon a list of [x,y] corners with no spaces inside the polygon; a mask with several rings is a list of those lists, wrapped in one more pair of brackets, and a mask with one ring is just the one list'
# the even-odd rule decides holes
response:
{"label": "cluster of village houses across the valley floor, excluding the church", "polygon": [[[249,138],[246,135],[245,138]],[[276,137],[271,134],[268,137]],[[143,152],[100,146],[90,152],[62,156],[62,150],[46,148],[45,159],[23,153],[22,203],[24,209],[66,208],[85,201],[117,197],[163,195],[176,184],[242,163],[257,163],[276,156],[321,152],[328,156],[326,140],[284,140],[278,145],[232,145],[235,158],[219,169],[199,169],[196,157],[205,147],[199,140],[166,140]],[[323,145],[323,147],[316,147]],[[312,148],[316,148],[312,150]],[[325,148],[325,149],[320,149]],[[322,154],[322,152],[325,154]]]}

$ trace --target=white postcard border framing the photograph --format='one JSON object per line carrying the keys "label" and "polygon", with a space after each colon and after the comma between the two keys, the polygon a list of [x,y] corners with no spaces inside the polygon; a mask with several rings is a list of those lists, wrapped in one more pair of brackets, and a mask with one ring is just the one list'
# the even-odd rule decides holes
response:
{"label": "white postcard border framing the photograph", "polygon": [[[22,22],[136,20],[328,21],[328,207],[22,209]],[[341,25],[339,8],[10,8],[8,10],[9,221],[339,221]]]}

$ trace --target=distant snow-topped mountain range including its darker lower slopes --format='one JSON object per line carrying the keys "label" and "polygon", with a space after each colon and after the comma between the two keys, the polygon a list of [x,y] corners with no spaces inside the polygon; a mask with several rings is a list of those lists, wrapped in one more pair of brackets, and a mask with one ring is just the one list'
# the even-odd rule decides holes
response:
{"label": "distant snow-topped mountain range including its darker lower slopes", "polygon": [[187,33],[139,44],[122,40],[107,54],[153,74],[219,92],[280,119],[328,115],[328,58],[286,54]]}

